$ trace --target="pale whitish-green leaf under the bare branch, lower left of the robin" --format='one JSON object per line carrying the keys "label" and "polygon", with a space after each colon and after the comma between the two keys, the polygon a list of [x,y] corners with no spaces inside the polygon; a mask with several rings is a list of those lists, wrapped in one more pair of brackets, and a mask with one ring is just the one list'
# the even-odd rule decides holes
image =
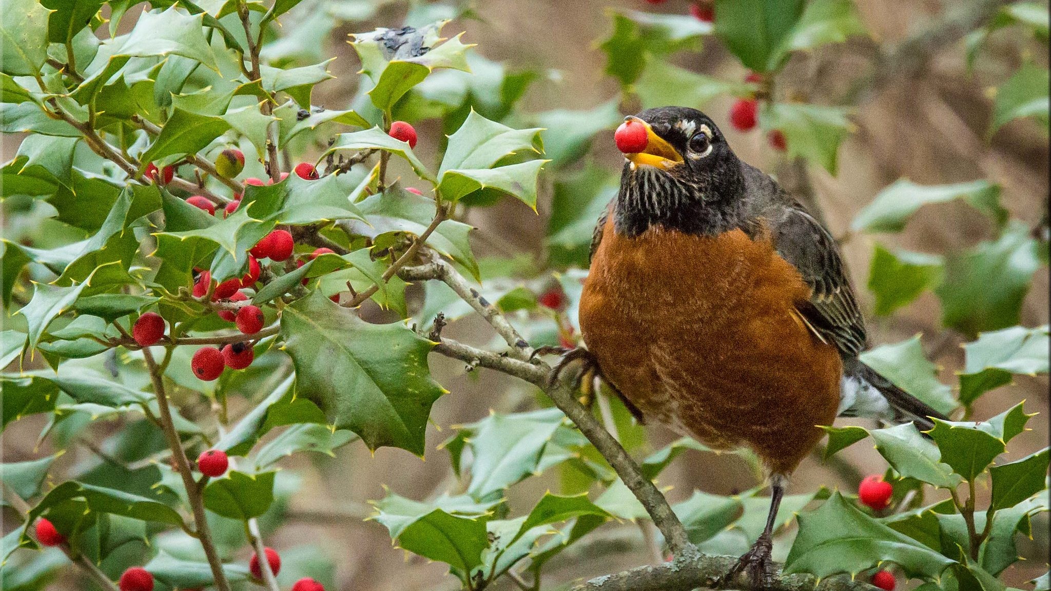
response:
{"label": "pale whitish-green leaf under the bare branch, lower left of the robin", "polygon": [[557,408],[548,408],[492,414],[465,425],[461,432],[474,453],[467,492],[475,499],[487,499],[538,471],[544,447],[564,418]]}

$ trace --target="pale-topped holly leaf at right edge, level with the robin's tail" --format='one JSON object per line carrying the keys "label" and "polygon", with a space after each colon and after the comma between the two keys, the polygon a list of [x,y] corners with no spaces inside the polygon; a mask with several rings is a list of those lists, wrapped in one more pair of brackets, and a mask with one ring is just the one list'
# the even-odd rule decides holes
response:
{"label": "pale-topped holly leaf at right edge, level with the robin's tail", "polygon": [[990,389],[1011,383],[1013,374],[1048,373],[1048,326],[982,333],[964,351],[967,361],[960,375],[960,401],[970,406]]}

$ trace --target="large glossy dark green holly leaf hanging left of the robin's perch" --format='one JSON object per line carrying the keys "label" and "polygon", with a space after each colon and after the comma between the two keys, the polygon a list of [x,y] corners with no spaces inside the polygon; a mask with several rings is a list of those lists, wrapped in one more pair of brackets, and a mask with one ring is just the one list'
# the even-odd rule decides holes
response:
{"label": "large glossy dark green holly leaf hanging left of the robin's perch", "polygon": [[431,404],[444,394],[427,365],[434,343],[400,322],[368,323],[316,290],[285,308],[281,333],[296,392],[336,428],[354,431],[370,449],[423,456]]}

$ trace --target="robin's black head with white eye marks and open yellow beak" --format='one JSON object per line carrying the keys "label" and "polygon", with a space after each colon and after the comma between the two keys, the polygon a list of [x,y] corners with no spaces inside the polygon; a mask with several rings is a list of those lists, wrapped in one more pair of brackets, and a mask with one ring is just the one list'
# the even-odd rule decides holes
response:
{"label": "robin's black head with white eye marks and open yellow beak", "polygon": [[617,232],[637,236],[661,226],[718,234],[740,227],[741,161],[712,119],[688,107],[646,109],[634,119],[647,126],[650,141],[642,152],[624,154]]}

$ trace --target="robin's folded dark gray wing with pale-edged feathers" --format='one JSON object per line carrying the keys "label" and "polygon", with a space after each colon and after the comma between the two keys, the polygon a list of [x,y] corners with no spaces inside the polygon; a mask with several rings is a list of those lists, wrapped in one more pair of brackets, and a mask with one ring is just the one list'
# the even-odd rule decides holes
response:
{"label": "robin's folded dark gray wing with pale-edged feathers", "polygon": [[799,307],[799,312],[843,357],[857,357],[866,345],[865,319],[843,271],[836,240],[801,206],[787,206],[768,220],[778,254],[810,286],[810,301]]}

